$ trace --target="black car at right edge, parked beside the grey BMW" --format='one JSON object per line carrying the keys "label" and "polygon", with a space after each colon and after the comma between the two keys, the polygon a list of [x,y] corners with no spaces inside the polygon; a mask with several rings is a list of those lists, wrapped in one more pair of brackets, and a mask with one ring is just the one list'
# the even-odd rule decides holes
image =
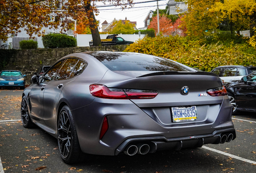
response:
{"label": "black car at right edge, parked beside the grey BMW", "polygon": [[234,106],[233,114],[237,111],[256,112],[256,71],[241,80],[226,82],[224,86]]}

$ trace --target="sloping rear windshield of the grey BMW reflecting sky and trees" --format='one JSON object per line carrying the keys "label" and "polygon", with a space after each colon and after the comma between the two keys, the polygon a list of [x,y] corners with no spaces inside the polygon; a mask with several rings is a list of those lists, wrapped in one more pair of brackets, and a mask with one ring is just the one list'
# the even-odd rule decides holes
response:
{"label": "sloping rear windshield of the grey BMW reflecting sky and trees", "polygon": [[195,71],[157,56],[125,52],[87,52],[112,71]]}

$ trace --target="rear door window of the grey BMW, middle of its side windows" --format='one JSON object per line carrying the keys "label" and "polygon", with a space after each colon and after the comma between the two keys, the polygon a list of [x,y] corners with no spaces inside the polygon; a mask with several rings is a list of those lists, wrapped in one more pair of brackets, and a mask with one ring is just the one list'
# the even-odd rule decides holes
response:
{"label": "rear door window of the grey BMW, middle of its side windows", "polygon": [[68,79],[78,59],[68,58],[61,67],[56,80]]}

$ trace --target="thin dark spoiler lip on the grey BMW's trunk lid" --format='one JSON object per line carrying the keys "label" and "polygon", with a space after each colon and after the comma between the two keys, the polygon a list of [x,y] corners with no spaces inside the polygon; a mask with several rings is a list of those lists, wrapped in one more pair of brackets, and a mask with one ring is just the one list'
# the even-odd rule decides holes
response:
{"label": "thin dark spoiler lip on the grey BMW's trunk lid", "polygon": [[161,76],[161,75],[206,75],[206,76],[219,77],[219,75],[217,75],[213,72],[199,72],[199,71],[196,71],[196,72],[178,72],[178,71],[154,72],[154,73],[144,74],[144,75],[138,76],[138,77]]}

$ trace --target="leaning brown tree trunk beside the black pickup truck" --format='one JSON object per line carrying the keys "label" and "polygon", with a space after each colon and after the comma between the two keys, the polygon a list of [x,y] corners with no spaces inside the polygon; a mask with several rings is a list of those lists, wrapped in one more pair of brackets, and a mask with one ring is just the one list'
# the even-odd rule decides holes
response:
{"label": "leaning brown tree trunk beside the black pickup truck", "polygon": [[[89,9],[91,9],[91,1],[88,4]],[[97,21],[95,19],[93,11],[89,14],[91,18],[93,18],[93,21],[89,24],[91,29],[91,35],[93,37],[93,46],[99,46],[101,44],[101,37],[99,36],[99,30],[97,27]]]}

